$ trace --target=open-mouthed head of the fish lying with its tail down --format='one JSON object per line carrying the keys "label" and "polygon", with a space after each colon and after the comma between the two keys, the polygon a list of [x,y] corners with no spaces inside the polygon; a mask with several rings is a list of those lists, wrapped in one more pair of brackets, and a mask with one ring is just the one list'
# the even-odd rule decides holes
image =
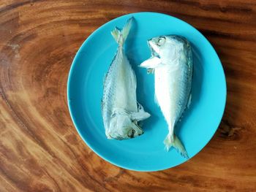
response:
{"label": "open-mouthed head of the fish lying with its tail down", "polygon": [[170,61],[170,59],[176,58],[177,53],[181,52],[187,43],[187,39],[178,35],[148,39],[148,47],[151,49],[152,56],[160,58],[163,63],[165,63],[165,60]]}

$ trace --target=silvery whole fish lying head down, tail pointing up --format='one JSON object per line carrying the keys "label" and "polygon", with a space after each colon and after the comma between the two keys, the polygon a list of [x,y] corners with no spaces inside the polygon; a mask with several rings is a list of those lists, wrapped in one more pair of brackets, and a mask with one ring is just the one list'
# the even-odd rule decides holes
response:
{"label": "silvery whole fish lying head down, tail pointing up", "polygon": [[130,139],[143,134],[138,121],[150,115],[136,99],[136,77],[124,53],[124,42],[132,27],[130,18],[122,30],[111,34],[118,50],[105,76],[102,99],[102,118],[108,139]]}

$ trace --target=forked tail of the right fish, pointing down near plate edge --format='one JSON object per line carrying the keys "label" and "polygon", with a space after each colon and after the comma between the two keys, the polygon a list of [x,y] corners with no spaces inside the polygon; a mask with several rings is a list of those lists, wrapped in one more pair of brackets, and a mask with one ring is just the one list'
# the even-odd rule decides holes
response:
{"label": "forked tail of the right fish, pointing down near plate edge", "polygon": [[176,148],[178,153],[180,153],[184,158],[189,158],[189,155],[187,154],[187,151],[186,151],[184,145],[182,145],[181,140],[178,139],[178,137],[175,134],[173,134],[173,135],[167,134],[164,144],[165,144],[165,147],[167,150],[169,150],[170,147],[174,147],[174,148]]}

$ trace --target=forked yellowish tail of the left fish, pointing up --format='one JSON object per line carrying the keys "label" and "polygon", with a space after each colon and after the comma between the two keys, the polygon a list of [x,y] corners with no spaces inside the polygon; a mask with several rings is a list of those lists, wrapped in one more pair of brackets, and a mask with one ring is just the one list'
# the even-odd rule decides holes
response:
{"label": "forked yellowish tail of the left fish, pointing up", "polygon": [[113,31],[111,31],[113,38],[116,40],[118,45],[121,47],[124,45],[124,42],[127,39],[129,30],[132,27],[133,20],[134,20],[133,17],[129,18],[129,20],[127,20],[127,23],[125,24],[125,26],[122,30],[120,30],[119,28],[116,27],[113,29]]}

